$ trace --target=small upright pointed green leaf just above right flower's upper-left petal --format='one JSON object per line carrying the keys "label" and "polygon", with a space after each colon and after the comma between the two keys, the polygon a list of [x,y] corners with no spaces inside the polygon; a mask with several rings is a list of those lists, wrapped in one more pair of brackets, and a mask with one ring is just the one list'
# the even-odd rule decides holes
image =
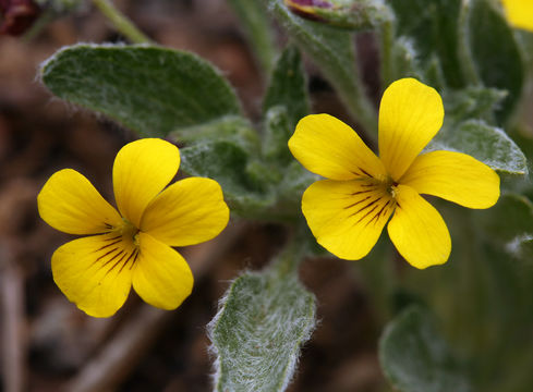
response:
{"label": "small upright pointed green leaf just above right flower's upper-left petal", "polygon": [[268,110],[277,106],[284,107],[288,125],[292,132],[300,119],[310,113],[307,81],[302,58],[300,51],[292,46],[283,51],[276,64],[263,101],[264,115],[268,118]]}

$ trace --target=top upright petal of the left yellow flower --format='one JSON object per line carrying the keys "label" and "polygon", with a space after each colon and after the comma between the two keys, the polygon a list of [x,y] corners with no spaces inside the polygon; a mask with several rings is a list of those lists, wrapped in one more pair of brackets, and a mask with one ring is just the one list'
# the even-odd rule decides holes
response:
{"label": "top upright petal of the left yellow flower", "polygon": [[113,166],[114,198],[122,216],[138,228],[146,206],[179,167],[178,147],[162,139],[144,138],[122,147]]}

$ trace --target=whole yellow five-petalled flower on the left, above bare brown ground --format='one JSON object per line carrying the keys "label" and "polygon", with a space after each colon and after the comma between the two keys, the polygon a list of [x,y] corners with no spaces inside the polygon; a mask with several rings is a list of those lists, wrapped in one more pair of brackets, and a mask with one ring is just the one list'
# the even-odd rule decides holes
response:
{"label": "whole yellow five-petalled flower on the left, above bare brown ground", "polygon": [[215,237],[228,224],[229,209],[220,186],[209,179],[190,177],[165,188],[179,166],[180,151],[168,142],[125,145],[113,166],[120,213],[72,169],[54,173],[40,191],[39,213],[48,224],[89,235],[52,256],[53,280],[87,315],[112,316],[132,285],[162,309],[177,308],[191,294],[191,269],[171,246]]}

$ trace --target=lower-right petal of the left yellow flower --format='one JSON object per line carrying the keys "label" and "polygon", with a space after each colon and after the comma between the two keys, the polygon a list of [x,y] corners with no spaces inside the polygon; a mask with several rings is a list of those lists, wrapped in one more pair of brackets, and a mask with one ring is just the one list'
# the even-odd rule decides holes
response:
{"label": "lower-right petal of the left yellow flower", "polygon": [[141,256],[133,272],[133,289],[148,304],[175,309],[191,294],[193,274],[185,259],[145,233],[138,234]]}

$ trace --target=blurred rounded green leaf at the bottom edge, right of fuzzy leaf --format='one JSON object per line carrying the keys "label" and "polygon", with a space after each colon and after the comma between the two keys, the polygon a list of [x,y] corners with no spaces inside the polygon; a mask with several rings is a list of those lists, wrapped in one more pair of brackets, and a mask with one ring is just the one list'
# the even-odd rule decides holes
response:
{"label": "blurred rounded green leaf at the bottom edge, right of fuzzy leaf", "polygon": [[379,362],[386,378],[402,392],[470,392],[473,388],[427,310],[413,306],[385,329]]}

